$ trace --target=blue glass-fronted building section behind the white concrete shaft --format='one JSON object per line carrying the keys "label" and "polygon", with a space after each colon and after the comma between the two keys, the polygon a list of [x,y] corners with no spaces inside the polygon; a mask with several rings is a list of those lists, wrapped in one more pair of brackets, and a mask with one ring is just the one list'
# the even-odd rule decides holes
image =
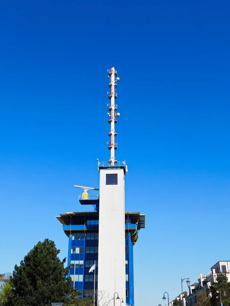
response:
{"label": "blue glass-fronted building section behind the white concrete shaft", "polygon": [[[145,227],[145,215],[125,213],[125,271],[126,304],[134,305],[133,246],[138,232]],[[95,279],[98,277],[99,213],[73,212],[60,214],[57,219],[68,237],[68,265],[71,266],[72,286],[82,297],[93,296],[94,272],[89,269],[96,262]],[[109,231],[109,228],[108,228]]]}

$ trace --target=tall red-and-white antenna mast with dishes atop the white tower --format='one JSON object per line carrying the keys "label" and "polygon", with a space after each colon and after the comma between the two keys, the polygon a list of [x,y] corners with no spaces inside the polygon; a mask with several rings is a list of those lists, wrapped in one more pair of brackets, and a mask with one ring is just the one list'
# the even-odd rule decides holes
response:
{"label": "tall red-and-white antenna mast with dishes atop the white tower", "polygon": [[118,122],[116,117],[120,116],[120,113],[116,113],[118,106],[115,104],[115,100],[117,99],[118,95],[115,92],[115,89],[117,87],[117,82],[120,80],[120,78],[117,78],[117,71],[114,67],[112,67],[110,70],[108,70],[108,76],[109,76],[109,87],[110,92],[108,95],[108,98],[110,99],[110,104],[108,104],[108,110],[110,113],[108,113],[109,120],[108,123],[110,123],[110,131],[108,133],[108,136],[110,136],[110,142],[108,142],[108,149],[110,150],[110,158],[109,163],[114,166],[118,161],[115,158],[115,150],[117,150],[117,143],[115,142],[115,137],[118,135],[115,131],[115,124]]}

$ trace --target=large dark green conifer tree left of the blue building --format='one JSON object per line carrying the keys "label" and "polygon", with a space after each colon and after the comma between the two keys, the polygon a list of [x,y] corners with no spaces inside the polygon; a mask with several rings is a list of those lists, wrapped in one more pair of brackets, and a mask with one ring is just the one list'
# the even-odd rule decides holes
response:
{"label": "large dark green conifer tree left of the blue building", "polygon": [[53,241],[45,239],[15,266],[12,277],[12,297],[7,306],[50,306],[51,302],[65,302],[72,291],[69,268],[65,259],[58,258],[60,250]]}

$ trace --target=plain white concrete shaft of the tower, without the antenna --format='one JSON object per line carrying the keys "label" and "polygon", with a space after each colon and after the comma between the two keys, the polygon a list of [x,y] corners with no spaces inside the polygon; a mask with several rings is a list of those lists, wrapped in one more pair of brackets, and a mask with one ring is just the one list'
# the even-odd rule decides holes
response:
{"label": "plain white concrete shaft of the tower, without the antenna", "polygon": [[[106,185],[106,176],[110,174],[117,175],[117,185]],[[99,306],[105,303],[107,305],[108,300],[110,300],[108,305],[113,305],[115,292],[118,292],[119,297],[124,301],[126,297],[124,198],[124,170],[101,169],[98,251]],[[102,299],[100,295],[103,295]],[[115,304],[120,306],[120,300],[115,299]]]}

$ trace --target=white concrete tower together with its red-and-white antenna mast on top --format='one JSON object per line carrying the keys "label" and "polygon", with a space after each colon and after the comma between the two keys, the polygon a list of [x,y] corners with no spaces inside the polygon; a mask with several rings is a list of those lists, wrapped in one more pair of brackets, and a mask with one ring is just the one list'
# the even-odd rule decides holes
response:
{"label": "white concrete tower together with its red-and-white antenna mast on top", "polygon": [[[114,124],[117,123],[117,98],[115,88],[119,81],[117,71],[112,67],[109,70],[109,99],[110,114],[109,132],[110,159],[108,162],[99,162],[100,171],[100,204],[99,204],[99,250],[98,250],[98,304],[120,306],[120,298],[126,300],[125,278],[125,185],[124,178],[127,172],[125,162],[117,162],[115,150],[117,145],[114,138],[117,133]],[[113,300],[115,294],[115,299]],[[109,303],[108,303],[109,302]]]}

